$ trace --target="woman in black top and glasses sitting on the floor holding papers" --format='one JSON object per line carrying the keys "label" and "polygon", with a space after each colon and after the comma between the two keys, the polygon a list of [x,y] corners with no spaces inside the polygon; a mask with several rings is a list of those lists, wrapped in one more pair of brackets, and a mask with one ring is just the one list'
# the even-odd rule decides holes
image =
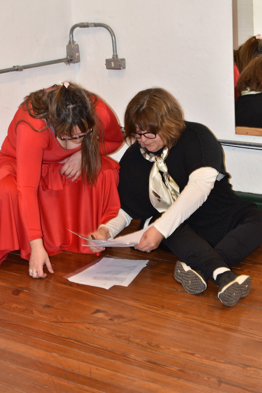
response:
{"label": "woman in black top and glasses sitting on the floor holding papers", "polygon": [[161,88],[139,92],[127,105],[125,140],[132,144],[120,161],[121,209],[93,235],[106,240],[131,219],[141,228],[153,222],[135,248],[168,248],[179,258],[175,279],[186,292],[199,294],[212,279],[221,302],[235,305],[251,277],[231,266],[260,246],[262,211],[232,191],[220,144],[204,125],[184,121]]}

